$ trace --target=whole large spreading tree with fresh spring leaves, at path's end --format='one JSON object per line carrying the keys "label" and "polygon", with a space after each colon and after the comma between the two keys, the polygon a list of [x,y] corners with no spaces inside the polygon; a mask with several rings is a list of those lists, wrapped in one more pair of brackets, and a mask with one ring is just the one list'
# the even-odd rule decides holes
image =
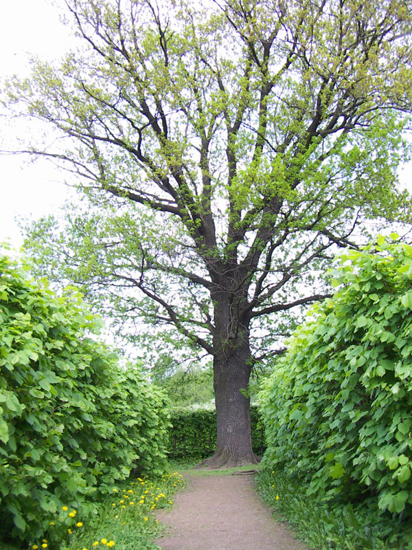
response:
{"label": "whole large spreading tree with fresh spring leaves, at path's end", "polygon": [[63,233],[35,227],[32,252],[121,318],[171,325],[211,355],[209,463],[253,462],[253,338],[325,296],[315,283],[336,246],[409,221],[396,168],[411,4],[66,5],[83,49],[8,94],[69,138],[27,151],[65,166],[87,206]]}

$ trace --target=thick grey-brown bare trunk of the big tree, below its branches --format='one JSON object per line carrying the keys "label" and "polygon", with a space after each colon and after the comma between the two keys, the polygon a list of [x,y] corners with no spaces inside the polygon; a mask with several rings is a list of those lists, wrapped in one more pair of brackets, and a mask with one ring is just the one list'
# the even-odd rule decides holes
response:
{"label": "thick grey-brown bare trunk of the big tree, below its branches", "polygon": [[[220,303],[222,314],[222,303]],[[220,318],[225,317],[220,315]],[[215,316],[216,319],[216,316]],[[232,318],[233,322],[233,318]],[[216,322],[216,328],[219,329]],[[239,327],[239,322],[236,322]],[[259,459],[252,451],[249,378],[251,375],[251,350],[249,327],[237,330],[231,338],[229,325],[221,325],[214,345],[214,393],[216,402],[217,437],[216,450],[201,465],[207,467],[231,467],[256,464]]]}

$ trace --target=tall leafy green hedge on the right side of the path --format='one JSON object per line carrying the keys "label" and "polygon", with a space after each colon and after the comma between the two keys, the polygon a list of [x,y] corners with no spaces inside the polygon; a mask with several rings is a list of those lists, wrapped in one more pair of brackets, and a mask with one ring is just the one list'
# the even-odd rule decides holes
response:
{"label": "tall leafy green hedge on the right side of the path", "polygon": [[[394,239],[395,234],[391,235]],[[412,515],[412,248],[346,252],[260,395],[264,462],[308,494]]]}

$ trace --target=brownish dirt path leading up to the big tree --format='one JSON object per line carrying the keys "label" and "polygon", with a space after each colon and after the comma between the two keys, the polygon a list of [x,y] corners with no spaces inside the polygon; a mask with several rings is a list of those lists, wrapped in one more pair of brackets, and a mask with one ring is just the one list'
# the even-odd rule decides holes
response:
{"label": "brownish dirt path leading up to the big tree", "polygon": [[275,522],[253,476],[185,475],[187,487],[157,519],[170,527],[155,540],[164,550],[306,550]]}

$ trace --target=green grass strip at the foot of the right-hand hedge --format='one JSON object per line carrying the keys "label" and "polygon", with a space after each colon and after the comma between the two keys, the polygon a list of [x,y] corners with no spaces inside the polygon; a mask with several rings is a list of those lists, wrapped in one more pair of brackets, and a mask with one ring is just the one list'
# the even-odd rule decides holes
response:
{"label": "green grass strip at the foot of the right-hand hedge", "polygon": [[258,474],[258,490],[275,518],[287,520],[312,550],[412,550],[410,523],[380,514],[376,503],[321,502],[282,472],[266,470]]}

